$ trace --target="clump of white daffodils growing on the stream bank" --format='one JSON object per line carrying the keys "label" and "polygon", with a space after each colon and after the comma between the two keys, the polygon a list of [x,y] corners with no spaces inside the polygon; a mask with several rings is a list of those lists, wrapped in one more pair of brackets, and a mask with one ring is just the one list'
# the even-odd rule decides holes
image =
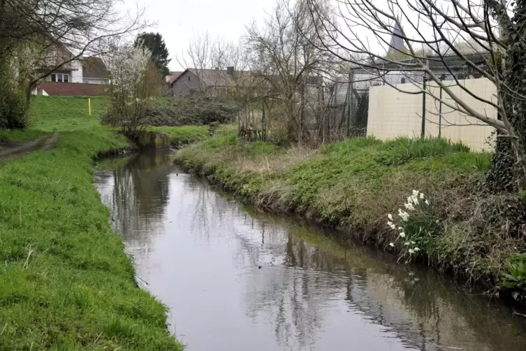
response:
{"label": "clump of white daffodils growing on the stream bank", "polygon": [[432,239],[441,233],[441,221],[435,212],[428,196],[413,190],[404,209],[399,208],[396,216],[387,215],[388,227],[397,232],[396,240],[389,245],[400,246],[400,259],[409,262],[428,251]]}

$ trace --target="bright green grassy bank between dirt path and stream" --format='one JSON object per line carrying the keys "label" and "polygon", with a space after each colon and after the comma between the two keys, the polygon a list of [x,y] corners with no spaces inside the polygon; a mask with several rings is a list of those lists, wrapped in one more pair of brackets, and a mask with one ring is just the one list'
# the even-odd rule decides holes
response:
{"label": "bright green grassy bank between dirt path and stream", "polygon": [[182,350],[92,184],[92,157],[127,143],[105,129],[0,166],[3,350]]}

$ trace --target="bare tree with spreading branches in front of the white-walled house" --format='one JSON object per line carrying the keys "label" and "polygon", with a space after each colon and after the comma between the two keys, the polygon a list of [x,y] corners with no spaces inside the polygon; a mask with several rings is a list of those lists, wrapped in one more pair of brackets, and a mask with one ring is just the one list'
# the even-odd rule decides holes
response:
{"label": "bare tree with spreading branches in front of the white-walled house", "polygon": [[[29,45],[34,67],[26,95],[58,69],[71,69],[83,56],[102,55],[115,37],[133,34],[147,23],[144,10],[124,15],[117,0],[0,0],[2,50]],[[6,52],[6,51],[4,51]],[[1,58],[0,53],[0,58]]]}

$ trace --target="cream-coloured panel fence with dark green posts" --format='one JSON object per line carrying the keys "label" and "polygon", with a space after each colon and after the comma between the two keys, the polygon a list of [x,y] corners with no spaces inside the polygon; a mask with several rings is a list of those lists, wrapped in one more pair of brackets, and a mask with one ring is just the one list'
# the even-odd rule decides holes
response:
{"label": "cream-coloured panel fence with dark green posts", "polygon": [[[444,81],[444,84],[478,113],[497,117],[495,107],[474,98],[455,81]],[[496,87],[490,80],[467,79],[462,80],[462,85],[474,95],[496,102]],[[396,85],[397,89],[390,86],[370,87],[367,136],[382,140],[397,136],[440,136],[453,142],[462,141],[474,151],[492,149],[488,141],[495,128],[447,106],[455,106],[456,103],[436,83],[426,82],[423,86],[434,96],[442,96],[444,103],[429,94],[407,94],[397,90],[418,92],[421,87],[412,83]]]}

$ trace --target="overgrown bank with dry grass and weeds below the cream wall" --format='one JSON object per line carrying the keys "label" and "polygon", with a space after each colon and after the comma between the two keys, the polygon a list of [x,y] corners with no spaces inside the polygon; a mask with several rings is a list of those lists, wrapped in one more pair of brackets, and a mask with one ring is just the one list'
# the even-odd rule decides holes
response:
{"label": "overgrown bank with dry grass and weeds below the cream wall", "polygon": [[[511,221],[509,211],[523,208],[523,201],[511,194],[483,194],[490,155],[463,145],[353,138],[321,150],[282,149],[240,143],[229,134],[184,149],[178,158],[256,206],[341,227],[362,241],[402,253],[402,262],[430,263],[487,287],[497,287],[509,257],[525,252],[520,224]],[[398,209],[414,189],[430,206],[414,210],[403,222]],[[407,236],[421,246],[418,255],[409,255],[400,231],[388,227],[389,213],[414,231]],[[423,222],[415,224],[413,218]]]}

